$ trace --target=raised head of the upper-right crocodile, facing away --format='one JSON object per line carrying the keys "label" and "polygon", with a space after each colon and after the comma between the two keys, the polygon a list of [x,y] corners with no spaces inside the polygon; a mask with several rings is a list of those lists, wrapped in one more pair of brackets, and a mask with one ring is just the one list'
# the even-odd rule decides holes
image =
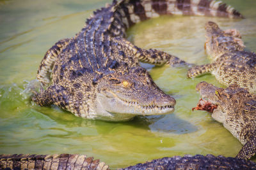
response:
{"label": "raised head of the upper-right crocodile, facing away", "polygon": [[241,34],[236,29],[222,31],[210,21],[205,24],[205,31],[205,50],[214,60],[223,53],[244,50]]}

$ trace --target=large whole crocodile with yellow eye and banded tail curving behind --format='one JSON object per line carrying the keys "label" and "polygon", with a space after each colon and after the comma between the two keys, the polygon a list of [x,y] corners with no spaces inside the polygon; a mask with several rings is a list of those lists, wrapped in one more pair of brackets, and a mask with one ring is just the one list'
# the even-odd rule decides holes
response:
{"label": "large whole crocodile with yellow eye and banded tail curving behind", "polygon": [[74,38],[61,39],[45,53],[36,75],[44,89],[32,101],[54,104],[77,117],[108,121],[172,113],[175,99],[157,87],[140,62],[187,63],[133,45],[125,39],[125,30],[148,18],[175,14],[243,18],[234,8],[213,0],[113,1],[96,10]]}

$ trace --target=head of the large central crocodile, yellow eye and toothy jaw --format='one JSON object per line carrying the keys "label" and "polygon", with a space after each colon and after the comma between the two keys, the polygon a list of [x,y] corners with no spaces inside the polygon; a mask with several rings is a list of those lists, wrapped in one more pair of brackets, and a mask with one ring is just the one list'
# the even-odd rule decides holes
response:
{"label": "head of the large central crocodile, yellow eye and toothy jaw", "polygon": [[146,69],[104,76],[97,84],[95,113],[100,119],[125,121],[136,115],[163,115],[174,111],[175,99],[157,87]]}

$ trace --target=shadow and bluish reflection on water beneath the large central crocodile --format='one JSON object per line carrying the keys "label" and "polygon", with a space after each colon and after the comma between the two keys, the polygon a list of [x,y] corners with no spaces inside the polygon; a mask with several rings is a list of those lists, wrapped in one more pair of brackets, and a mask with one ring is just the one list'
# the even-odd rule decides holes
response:
{"label": "shadow and bluish reflection on water beneath the large central crocodile", "polygon": [[129,122],[116,123],[77,118],[68,111],[61,110],[62,113],[60,113],[60,108],[57,108],[56,106],[52,107],[52,109],[56,111],[45,110],[40,113],[38,112],[38,114],[43,114],[57,124],[64,125],[66,128],[93,127],[97,129],[97,134],[104,134],[104,132],[106,132],[106,129],[101,128],[102,125],[106,125],[107,127],[115,127],[116,124],[136,127],[138,129],[143,129],[143,131],[148,131],[148,133],[152,132],[152,134],[157,134],[159,132],[164,132],[166,134],[187,134],[197,130],[195,125],[186,120],[180,119],[175,114],[148,117],[141,116],[135,117]]}

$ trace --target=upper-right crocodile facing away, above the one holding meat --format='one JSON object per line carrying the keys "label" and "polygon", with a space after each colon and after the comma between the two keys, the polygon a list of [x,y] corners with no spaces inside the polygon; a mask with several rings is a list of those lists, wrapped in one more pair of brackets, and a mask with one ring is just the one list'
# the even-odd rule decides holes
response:
{"label": "upper-right crocodile facing away, above the one holding meat", "polygon": [[207,22],[205,30],[205,49],[212,62],[191,67],[188,77],[211,72],[225,86],[236,84],[249,92],[256,92],[256,54],[244,50],[239,31],[223,31],[214,22]]}

